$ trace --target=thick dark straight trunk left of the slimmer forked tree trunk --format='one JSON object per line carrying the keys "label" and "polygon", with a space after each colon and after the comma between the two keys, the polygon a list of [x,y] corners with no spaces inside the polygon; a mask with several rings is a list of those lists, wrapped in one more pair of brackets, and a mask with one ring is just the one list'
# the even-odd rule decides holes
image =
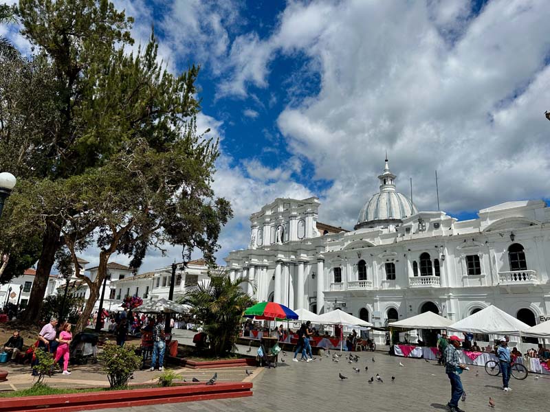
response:
{"label": "thick dark straight trunk left of the slimmer forked tree trunk", "polygon": [[47,282],[50,279],[50,272],[52,266],[54,266],[56,251],[60,246],[60,235],[61,230],[52,222],[47,222],[42,239],[42,251],[39,263],[36,266],[36,275],[32,283],[27,309],[23,315],[23,321],[27,324],[38,323],[41,320],[39,319],[40,310],[42,309]]}

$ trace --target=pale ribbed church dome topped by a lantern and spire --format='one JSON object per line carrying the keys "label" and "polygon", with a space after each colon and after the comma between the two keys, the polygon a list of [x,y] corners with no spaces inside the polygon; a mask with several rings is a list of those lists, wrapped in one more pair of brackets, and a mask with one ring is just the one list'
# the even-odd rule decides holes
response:
{"label": "pale ribbed church dome topped by a lantern and spire", "polygon": [[387,226],[399,224],[404,218],[418,213],[417,207],[404,194],[395,191],[395,174],[390,171],[388,159],[380,179],[380,192],[365,203],[359,213],[355,229],[362,227]]}

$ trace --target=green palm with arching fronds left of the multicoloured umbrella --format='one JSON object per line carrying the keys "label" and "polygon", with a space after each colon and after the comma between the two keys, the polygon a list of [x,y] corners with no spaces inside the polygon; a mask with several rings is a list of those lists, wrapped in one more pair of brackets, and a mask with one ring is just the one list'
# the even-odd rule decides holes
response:
{"label": "green palm with arching fronds left of the multicoloured umbrella", "polygon": [[190,286],[181,300],[192,306],[191,313],[203,322],[214,356],[223,356],[236,349],[243,313],[256,303],[243,289],[249,283],[256,290],[254,281],[245,277],[231,280],[228,273],[219,270],[210,274],[208,284]]}

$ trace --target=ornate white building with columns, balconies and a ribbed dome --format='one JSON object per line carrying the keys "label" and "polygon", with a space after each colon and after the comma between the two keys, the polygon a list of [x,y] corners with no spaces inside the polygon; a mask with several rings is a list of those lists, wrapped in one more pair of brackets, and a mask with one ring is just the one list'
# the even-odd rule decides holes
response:
{"label": "ornate white building with columns, balconies and a ribbed dome", "polygon": [[259,301],[342,308],[378,326],[427,310],[456,321],[489,304],[530,325],[550,317],[544,201],[503,203],[457,221],[418,211],[396,192],[387,160],[378,179],[380,192],[353,231],[319,223],[317,198],[265,205],[250,216],[249,248],[225,258],[231,275],[254,279]]}

